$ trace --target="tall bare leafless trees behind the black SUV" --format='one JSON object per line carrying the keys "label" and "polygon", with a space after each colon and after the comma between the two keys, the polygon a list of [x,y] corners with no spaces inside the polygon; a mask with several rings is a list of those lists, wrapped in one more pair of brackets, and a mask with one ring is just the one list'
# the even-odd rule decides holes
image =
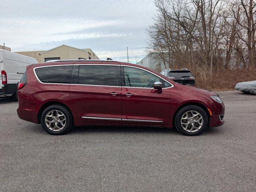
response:
{"label": "tall bare leafless trees behind the black SUV", "polygon": [[256,2],[155,0],[147,51],[166,67],[190,67],[202,78],[213,71],[256,68]]}

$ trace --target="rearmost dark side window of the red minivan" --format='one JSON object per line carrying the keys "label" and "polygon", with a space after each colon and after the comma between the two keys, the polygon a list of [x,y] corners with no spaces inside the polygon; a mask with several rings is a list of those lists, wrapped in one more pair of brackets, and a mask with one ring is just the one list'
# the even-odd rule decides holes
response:
{"label": "rearmost dark side window of the red minivan", "polygon": [[73,66],[49,66],[35,69],[43,83],[70,84]]}

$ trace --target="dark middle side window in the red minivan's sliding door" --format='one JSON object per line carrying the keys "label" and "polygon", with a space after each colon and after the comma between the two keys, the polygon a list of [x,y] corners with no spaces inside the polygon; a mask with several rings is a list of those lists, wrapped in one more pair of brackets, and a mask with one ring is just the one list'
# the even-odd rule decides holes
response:
{"label": "dark middle side window in the red minivan's sliding door", "polygon": [[78,84],[118,86],[118,66],[80,65]]}

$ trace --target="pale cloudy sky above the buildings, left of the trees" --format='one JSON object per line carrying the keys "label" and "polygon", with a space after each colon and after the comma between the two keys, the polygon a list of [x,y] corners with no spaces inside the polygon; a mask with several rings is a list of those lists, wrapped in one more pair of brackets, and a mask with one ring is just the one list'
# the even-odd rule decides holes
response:
{"label": "pale cloudy sky above the buildings, left of the trees", "polygon": [[153,0],[0,0],[0,44],[12,51],[66,44],[135,62],[145,56]]}

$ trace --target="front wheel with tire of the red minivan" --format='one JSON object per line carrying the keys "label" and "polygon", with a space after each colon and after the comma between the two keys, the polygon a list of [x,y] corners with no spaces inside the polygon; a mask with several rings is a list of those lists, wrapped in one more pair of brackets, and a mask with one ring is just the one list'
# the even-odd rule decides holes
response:
{"label": "front wheel with tire of the red minivan", "polygon": [[174,124],[181,134],[197,136],[207,128],[208,117],[201,107],[188,105],[178,110],[174,118]]}

